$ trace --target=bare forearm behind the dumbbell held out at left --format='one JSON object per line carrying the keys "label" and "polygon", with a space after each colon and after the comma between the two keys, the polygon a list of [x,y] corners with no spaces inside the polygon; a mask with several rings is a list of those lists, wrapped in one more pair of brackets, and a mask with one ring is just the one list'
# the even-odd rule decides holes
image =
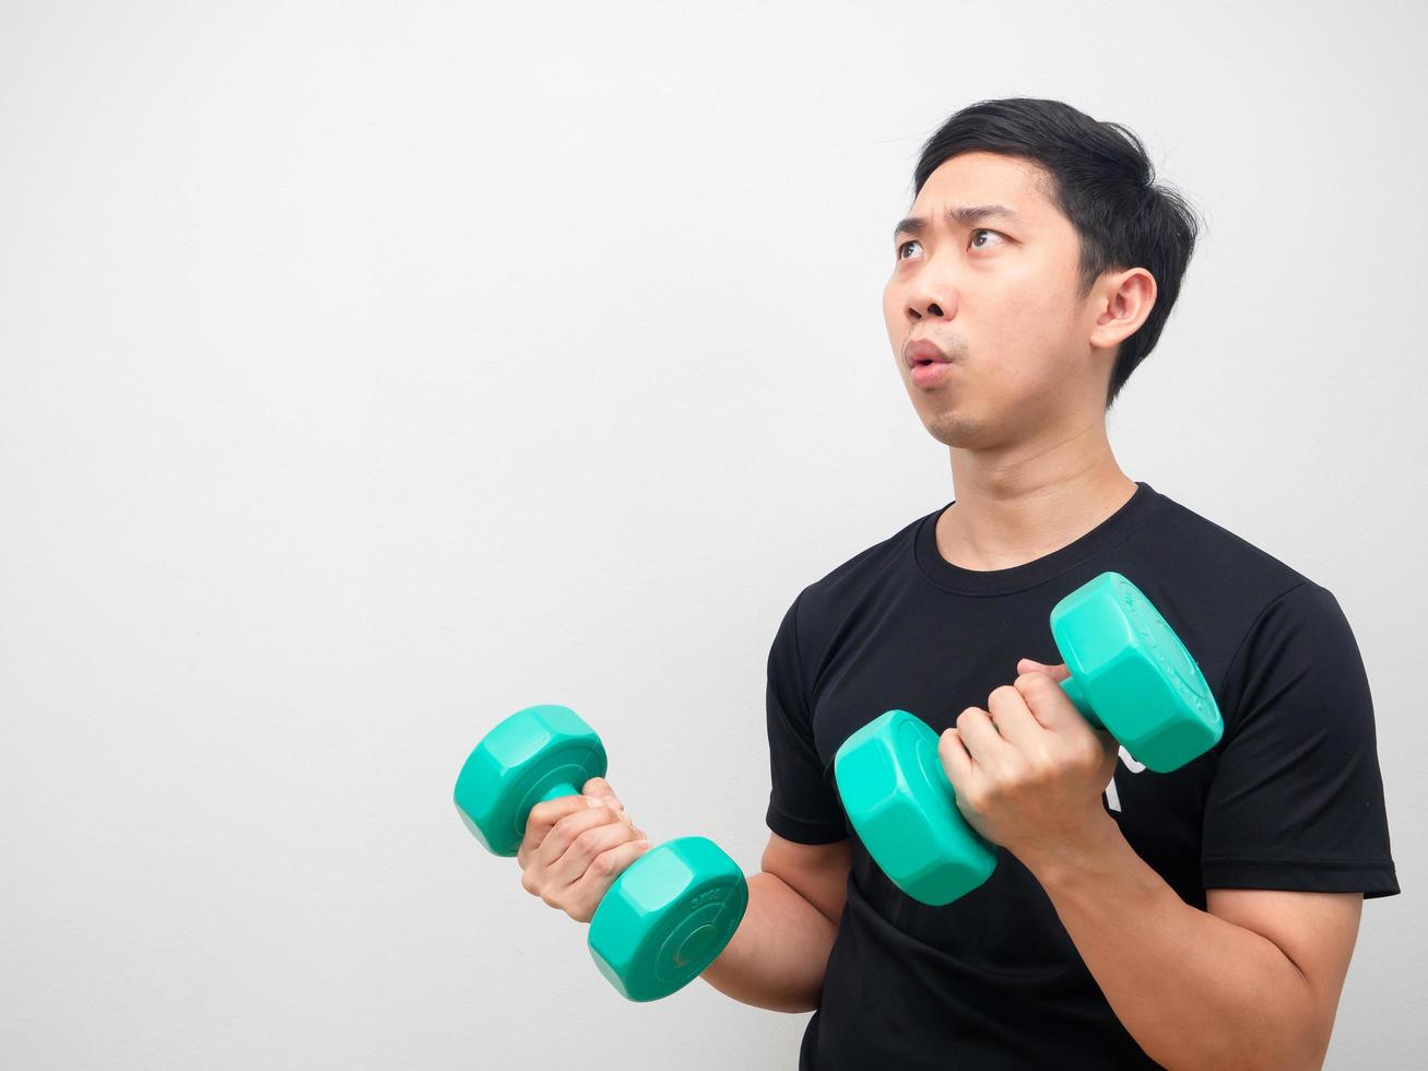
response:
{"label": "bare forearm behind the dumbbell held out at left", "polygon": [[748,878],[748,910],[734,940],[700,977],[743,1004],[813,1011],[837,934],[838,927],[783,880],[758,873]]}

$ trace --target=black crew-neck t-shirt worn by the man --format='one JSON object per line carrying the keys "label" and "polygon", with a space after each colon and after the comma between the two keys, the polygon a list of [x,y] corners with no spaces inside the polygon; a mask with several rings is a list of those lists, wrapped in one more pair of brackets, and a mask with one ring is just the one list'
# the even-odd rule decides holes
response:
{"label": "black crew-neck t-shirt worn by the man", "polygon": [[1328,590],[1144,481],[1074,543],[992,571],[941,555],[942,510],[805,587],[770,650],[768,828],[803,844],[847,837],[854,853],[798,1065],[1157,1067],[1011,853],[998,848],[991,878],[942,907],[898,890],[847,820],[834,754],[887,710],[941,733],[1011,684],[1018,658],[1064,661],[1051,607],[1115,570],[1184,641],[1225,720],[1211,751],[1170,774],[1137,771],[1121,750],[1102,804],[1135,853],[1201,910],[1205,888],[1392,895],[1354,634]]}

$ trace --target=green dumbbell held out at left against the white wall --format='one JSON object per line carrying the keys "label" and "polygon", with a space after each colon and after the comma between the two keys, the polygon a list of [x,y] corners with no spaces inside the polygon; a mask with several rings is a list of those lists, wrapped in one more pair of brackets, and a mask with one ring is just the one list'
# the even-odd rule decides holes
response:
{"label": "green dumbbell held out at left against the white wall", "polygon": [[[531,808],[605,775],[600,737],[570,707],[526,707],[476,745],[456,807],[487,851],[514,855]],[[595,967],[633,1001],[668,997],[724,951],[748,907],[744,873],[714,841],[680,837],[644,853],[590,920]]]}

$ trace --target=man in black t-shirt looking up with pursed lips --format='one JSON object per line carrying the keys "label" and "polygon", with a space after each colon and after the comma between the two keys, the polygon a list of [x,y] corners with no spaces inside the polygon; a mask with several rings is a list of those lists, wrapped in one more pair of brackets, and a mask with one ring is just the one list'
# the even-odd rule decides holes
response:
{"label": "man in black t-shirt looking up with pursed lips", "polygon": [[[924,147],[884,316],[957,497],[805,587],[768,658],[773,833],[704,978],[817,1010],[801,1068],[1322,1064],[1365,897],[1398,892],[1372,703],[1325,588],[1118,467],[1105,413],[1154,347],[1195,221],[1134,134],[982,101]],[[1048,614],[1105,570],[1195,657],[1211,751],[1144,771],[1057,687]],[[1030,657],[1027,657],[1030,655]],[[944,907],[853,834],[840,744],[918,714],[1000,845]],[[604,803],[531,813],[526,888],[575,918],[648,848]]]}

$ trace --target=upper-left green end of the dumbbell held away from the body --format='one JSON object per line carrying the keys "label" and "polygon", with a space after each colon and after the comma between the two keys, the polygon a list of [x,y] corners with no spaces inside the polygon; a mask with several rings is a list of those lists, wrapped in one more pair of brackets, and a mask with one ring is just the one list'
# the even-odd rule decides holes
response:
{"label": "upper-left green end of the dumbbell held away from the body", "polygon": [[526,707],[481,737],[456,780],[461,821],[488,851],[514,855],[531,807],[604,777],[605,748],[570,707]]}

